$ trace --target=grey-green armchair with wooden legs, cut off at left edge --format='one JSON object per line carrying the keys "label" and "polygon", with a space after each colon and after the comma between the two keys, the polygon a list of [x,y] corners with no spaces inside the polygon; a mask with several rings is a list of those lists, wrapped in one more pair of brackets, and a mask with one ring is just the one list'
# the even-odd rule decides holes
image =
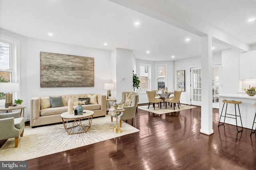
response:
{"label": "grey-green armchair with wooden legs, cut off at left edge", "polygon": [[18,147],[19,137],[23,136],[25,127],[24,117],[20,112],[0,113],[0,140],[14,138],[15,148]]}

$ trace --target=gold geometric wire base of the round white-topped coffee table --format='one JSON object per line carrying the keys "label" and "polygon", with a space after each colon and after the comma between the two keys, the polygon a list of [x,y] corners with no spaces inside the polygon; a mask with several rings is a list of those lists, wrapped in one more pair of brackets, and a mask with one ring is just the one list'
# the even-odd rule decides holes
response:
{"label": "gold geometric wire base of the round white-topped coffee table", "polygon": [[[64,119],[62,118],[63,125],[64,125],[65,130],[68,133],[68,135],[78,134],[78,133],[86,133],[91,127],[92,116],[93,115],[91,115],[90,117],[86,117],[86,118],[84,118],[84,117],[82,117],[82,118],[72,118],[72,120],[74,120],[73,122],[68,122],[69,119],[67,119],[67,121],[65,122]],[[84,121],[88,121],[88,125],[83,125],[82,124],[83,119],[84,119]],[[70,125],[70,124],[72,124],[72,125]],[[77,127],[77,126],[82,127],[82,131],[71,133],[73,127]]]}

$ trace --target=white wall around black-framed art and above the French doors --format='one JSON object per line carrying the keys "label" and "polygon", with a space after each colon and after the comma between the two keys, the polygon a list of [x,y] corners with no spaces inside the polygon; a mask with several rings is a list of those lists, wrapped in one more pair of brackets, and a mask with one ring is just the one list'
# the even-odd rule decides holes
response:
{"label": "white wall around black-framed art and above the French doors", "polygon": [[[212,54],[212,64],[221,64],[221,53]],[[185,92],[182,92],[180,96],[180,103],[190,104],[190,68],[200,67],[201,57],[192,57],[188,59],[174,61],[174,89],[177,89],[177,71],[185,70]],[[239,85],[239,84],[238,84]]]}

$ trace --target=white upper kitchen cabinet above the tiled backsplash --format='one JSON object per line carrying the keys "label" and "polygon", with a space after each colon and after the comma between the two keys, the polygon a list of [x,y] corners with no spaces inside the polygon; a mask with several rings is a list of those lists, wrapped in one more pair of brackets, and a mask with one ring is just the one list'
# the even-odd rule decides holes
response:
{"label": "white upper kitchen cabinet above the tiled backsplash", "polygon": [[239,79],[256,79],[256,51],[240,53]]}

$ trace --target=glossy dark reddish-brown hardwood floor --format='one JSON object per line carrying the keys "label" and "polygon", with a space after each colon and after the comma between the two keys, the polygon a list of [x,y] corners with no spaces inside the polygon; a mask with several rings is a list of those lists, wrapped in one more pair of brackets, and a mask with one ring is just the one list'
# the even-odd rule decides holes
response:
{"label": "glossy dark reddish-brown hardwood floor", "polygon": [[233,125],[218,129],[218,109],[213,109],[214,134],[203,135],[200,115],[201,107],[164,115],[138,109],[139,132],[28,160],[28,169],[256,169],[256,135],[250,137],[250,129],[238,134]]}

